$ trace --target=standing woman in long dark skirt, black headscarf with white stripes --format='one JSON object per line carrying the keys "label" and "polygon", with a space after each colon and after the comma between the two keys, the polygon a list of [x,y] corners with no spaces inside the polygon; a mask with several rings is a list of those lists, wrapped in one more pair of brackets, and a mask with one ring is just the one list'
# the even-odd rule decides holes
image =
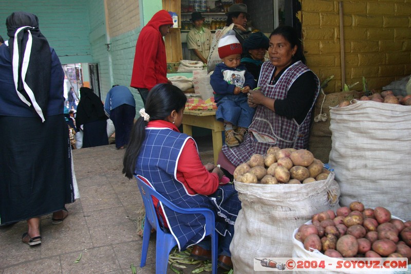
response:
{"label": "standing woman in long dark skirt, black headscarf with white stripes", "polygon": [[[40,216],[53,224],[74,202],[71,151],[63,115],[64,72],[38,17],[13,12],[0,46],[0,224],[27,220],[22,241],[41,243]],[[7,130],[6,130],[7,129]]]}

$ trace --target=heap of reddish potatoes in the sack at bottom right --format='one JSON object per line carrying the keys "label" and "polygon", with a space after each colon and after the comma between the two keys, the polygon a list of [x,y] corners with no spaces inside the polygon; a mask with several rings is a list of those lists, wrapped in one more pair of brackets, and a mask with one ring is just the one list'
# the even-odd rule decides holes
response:
{"label": "heap of reddish potatoes in the sack at bottom right", "polygon": [[364,209],[361,202],[352,202],[335,213],[327,210],[314,214],[311,221],[295,234],[306,250],[317,249],[334,258],[411,260],[411,221],[391,218],[384,207]]}

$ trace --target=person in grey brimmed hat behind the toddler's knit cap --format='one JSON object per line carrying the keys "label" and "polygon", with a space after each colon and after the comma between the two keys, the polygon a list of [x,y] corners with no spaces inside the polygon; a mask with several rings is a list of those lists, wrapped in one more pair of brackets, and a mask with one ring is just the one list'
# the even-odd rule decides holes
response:
{"label": "person in grey brimmed hat behind the toddler's knit cap", "polygon": [[251,35],[251,31],[247,30],[247,19],[250,18],[250,14],[247,12],[247,5],[234,4],[226,12],[226,15],[226,26],[234,23],[233,30],[235,31],[235,36],[242,45],[242,42]]}

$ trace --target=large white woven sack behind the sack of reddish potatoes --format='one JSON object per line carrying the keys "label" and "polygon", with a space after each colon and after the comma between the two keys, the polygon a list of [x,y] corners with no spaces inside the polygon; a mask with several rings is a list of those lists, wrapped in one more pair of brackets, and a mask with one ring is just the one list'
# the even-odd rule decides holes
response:
{"label": "large white woven sack behind the sack of reddish potatoes", "polygon": [[411,220],[411,106],[354,102],[330,109],[329,165],[340,184],[340,205],[360,201]]}

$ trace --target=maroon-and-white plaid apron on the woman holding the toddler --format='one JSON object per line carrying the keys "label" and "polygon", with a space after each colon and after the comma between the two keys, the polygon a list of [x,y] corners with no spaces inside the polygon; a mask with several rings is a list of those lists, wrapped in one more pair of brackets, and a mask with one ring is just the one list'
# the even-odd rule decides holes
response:
{"label": "maroon-and-white plaid apron on the woman holding the toddler", "polygon": [[[274,99],[285,99],[288,89],[294,81],[304,72],[310,70],[301,61],[298,61],[288,67],[275,84],[270,84],[274,68],[275,66],[270,62],[265,62],[261,67],[258,81],[258,86],[261,87],[264,95]],[[310,109],[314,106],[320,92],[318,78],[316,78],[316,82],[317,89]],[[234,166],[238,166],[248,161],[254,153],[266,154],[267,150],[274,146],[281,149],[307,149],[310,120],[311,111],[307,113],[304,121],[298,124],[295,119],[276,115],[271,109],[263,105],[257,105],[253,121],[249,126],[249,134],[246,135],[244,141],[238,147],[229,148],[224,145],[222,151]],[[263,137],[265,142],[257,141],[253,133]]]}

